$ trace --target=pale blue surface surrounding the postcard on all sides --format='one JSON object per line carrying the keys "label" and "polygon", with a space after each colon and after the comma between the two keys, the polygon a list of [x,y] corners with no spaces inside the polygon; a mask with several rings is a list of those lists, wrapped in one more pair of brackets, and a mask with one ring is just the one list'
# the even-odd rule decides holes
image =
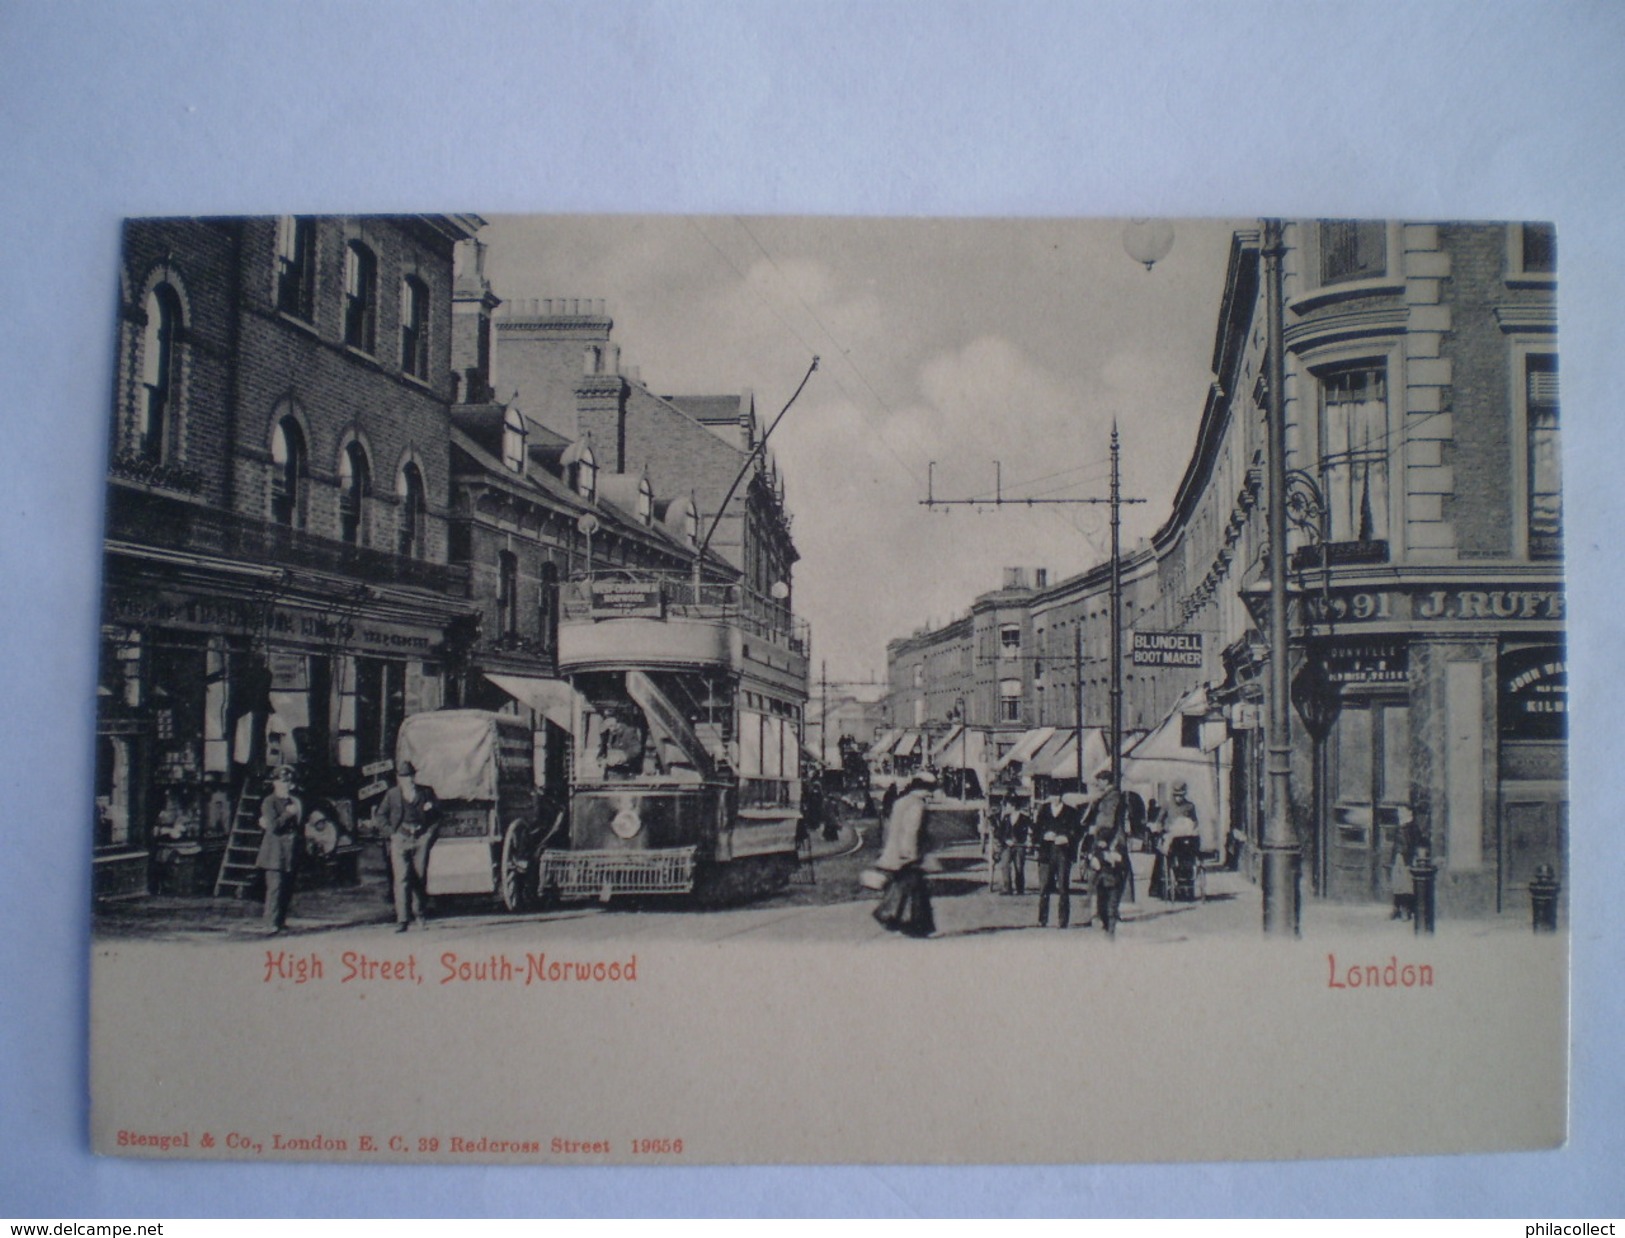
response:
{"label": "pale blue surface surrounding the postcard on all sides", "polygon": [[[1622,117],[1610,3],[0,0],[0,1215],[1618,1215]],[[91,1157],[81,822],[117,224],[284,210],[1555,218],[1570,1147],[994,1170]]]}

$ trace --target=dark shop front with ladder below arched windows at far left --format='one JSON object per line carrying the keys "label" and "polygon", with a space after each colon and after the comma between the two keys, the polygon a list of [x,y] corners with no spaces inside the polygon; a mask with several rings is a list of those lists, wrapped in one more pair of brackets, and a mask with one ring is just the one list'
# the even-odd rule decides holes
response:
{"label": "dark shop front with ladder below arched windows at far left", "polygon": [[210,894],[244,788],[294,765],[356,829],[408,713],[444,702],[450,603],[348,582],[110,559],[98,689],[94,892]]}

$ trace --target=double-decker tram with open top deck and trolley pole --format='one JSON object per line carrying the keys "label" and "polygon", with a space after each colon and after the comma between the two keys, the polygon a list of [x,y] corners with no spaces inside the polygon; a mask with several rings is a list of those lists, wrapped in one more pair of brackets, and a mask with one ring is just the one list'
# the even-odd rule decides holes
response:
{"label": "double-decker tram with open top deck and trolley pole", "polygon": [[572,580],[559,676],[574,687],[569,842],[540,856],[544,898],[788,882],[808,640],[783,601],[635,569]]}

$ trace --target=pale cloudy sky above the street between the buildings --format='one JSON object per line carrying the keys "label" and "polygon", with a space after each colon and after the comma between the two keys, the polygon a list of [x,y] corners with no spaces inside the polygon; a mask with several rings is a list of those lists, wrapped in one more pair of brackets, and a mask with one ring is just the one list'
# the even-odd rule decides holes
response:
{"label": "pale cloudy sky above the street between the buildings", "polygon": [[[1228,240],[1176,226],[1146,271],[1121,221],[488,216],[505,299],[603,297],[622,362],[663,395],[749,387],[785,474],[796,609],[830,679],[962,614],[1004,565],[1110,552],[1103,505],[928,510],[938,497],[1105,497],[1123,435],[1124,548],[1167,517],[1211,380]],[[497,383],[500,387],[500,374]]]}

